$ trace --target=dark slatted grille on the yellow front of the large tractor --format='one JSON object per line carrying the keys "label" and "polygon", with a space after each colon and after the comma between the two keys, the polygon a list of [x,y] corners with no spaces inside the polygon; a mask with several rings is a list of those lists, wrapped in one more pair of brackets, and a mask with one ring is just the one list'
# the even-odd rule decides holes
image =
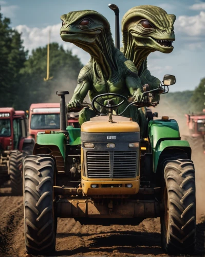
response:
{"label": "dark slatted grille on the yellow front of the large tractor", "polygon": [[137,152],[87,152],[90,178],[129,178],[136,176]]}

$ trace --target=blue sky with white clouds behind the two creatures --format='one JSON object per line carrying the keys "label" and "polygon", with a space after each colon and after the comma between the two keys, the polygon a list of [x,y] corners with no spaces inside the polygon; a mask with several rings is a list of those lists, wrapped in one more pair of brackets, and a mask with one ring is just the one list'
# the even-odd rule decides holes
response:
{"label": "blue sky with white clouds behind the two creatures", "polygon": [[170,86],[170,91],[193,90],[205,77],[205,0],[0,0],[1,13],[9,17],[11,26],[22,33],[26,50],[31,52],[45,46],[48,31],[51,30],[50,41],[71,49],[83,64],[88,62],[89,54],[61,40],[60,16],[70,11],[96,10],[109,21],[115,39],[115,15],[108,4],[119,7],[120,21],[129,9],[139,5],[155,5],[168,14],[175,14],[174,50],[169,54],[158,51],[151,53],[148,56],[148,69],[160,80],[165,74],[175,75],[176,84]]}

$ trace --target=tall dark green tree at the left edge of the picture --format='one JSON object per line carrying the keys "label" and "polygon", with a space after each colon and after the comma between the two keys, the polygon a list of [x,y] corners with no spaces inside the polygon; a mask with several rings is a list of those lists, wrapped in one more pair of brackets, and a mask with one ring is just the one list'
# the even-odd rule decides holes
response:
{"label": "tall dark green tree at the left edge of the picture", "polygon": [[24,66],[21,34],[10,27],[10,19],[0,13],[0,106],[14,106],[20,87],[20,69]]}

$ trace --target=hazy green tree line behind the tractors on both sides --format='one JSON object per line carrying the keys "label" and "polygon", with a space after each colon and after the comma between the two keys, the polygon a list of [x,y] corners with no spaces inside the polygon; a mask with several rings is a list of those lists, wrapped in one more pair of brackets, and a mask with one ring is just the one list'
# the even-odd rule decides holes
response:
{"label": "hazy green tree line behind the tractors on both sides", "polygon": [[[1,11],[1,9],[0,9]],[[69,90],[70,97],[76,87],[80,59],[58,43],[50,44],[50,76],[47,71],[47,45],[29,54],[23,47],[21,34],[11,28],[10,19],[0,13],[0,107],[28,109],[31,103],[58,102],[57,90]],[[187,111],[202,111],[205,78],[195,90],[164,95],[167,100],[180,103]]]}

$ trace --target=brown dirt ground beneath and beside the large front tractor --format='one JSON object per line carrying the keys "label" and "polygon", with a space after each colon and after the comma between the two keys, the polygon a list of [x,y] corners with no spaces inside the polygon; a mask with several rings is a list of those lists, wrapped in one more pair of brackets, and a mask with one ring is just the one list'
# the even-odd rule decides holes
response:
{"label": "brown dirt ground beneath and beside the large front tractor", "polygon": [[[163,112],[168,112],[165,105]],[[162,115],[164,115],[162,113]],[[181,131],[186,134],[185,118],[178,116]],[[182,134],[182,133],[181,133]],[[187,137],[183,137],[187,138]],[[193,140],[193,160],[197,187],[197,248],[204,254],[205,158]],[[0,256],[25,256],[23,198],[11,196],[10,188],[0,188]],[[53,256],[167,256],[160,244],[159,218],[146,219],[139,226],[81,226],[71,218],[58,222],[57,251]]]}

